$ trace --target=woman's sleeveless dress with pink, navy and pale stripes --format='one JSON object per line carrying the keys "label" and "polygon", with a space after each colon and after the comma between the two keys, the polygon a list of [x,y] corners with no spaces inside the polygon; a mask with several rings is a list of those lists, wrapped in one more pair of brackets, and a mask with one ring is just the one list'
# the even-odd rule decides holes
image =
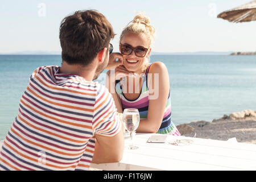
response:
{"label": "woman's sleeveless dress with pink, navy and pale stripes", "polygon": [[[150,64],[151,65],[151,64]],[[146,72],[142,76],[142,88],[141,92],[139,93],[138,98],[135,100],[129,100],[125,97],[125,94],[123,94],[123,88],[120,80],[117,80],[115,82],[115,92],[117,92],[121,104],[122,104],[122,110],[125,110],[126,108],[136,108],[139,110],[139,115],[141,119],[147,118],[147,112],[148,112],[148,104],[149,104],[149,91],[147,86],[147,73],[150,69],[150,65],[148,65],[148,68]],[[124,79],[122,79],[124,80]],[[159,127],[158,132],[159,134],[171,134],[171,135],[180,135],[179,131],[177,130],[176,126],[172,122],[171,118],[171,97],[170,92],[169,96],[166,102],[166,109],[164,110],[164,115],[162,119],[162,124]]]}

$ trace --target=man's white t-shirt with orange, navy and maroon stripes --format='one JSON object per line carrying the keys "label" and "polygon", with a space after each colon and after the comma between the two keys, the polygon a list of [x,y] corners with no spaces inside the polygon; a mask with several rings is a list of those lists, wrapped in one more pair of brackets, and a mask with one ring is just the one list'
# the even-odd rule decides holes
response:
{"label": "man's white t-shirt with orange, navy and maroon stripes", "polygon": [[59,69],[32,73],[0,152],[0,170],[88,170],[94,134],[119,132],[108,89]]}

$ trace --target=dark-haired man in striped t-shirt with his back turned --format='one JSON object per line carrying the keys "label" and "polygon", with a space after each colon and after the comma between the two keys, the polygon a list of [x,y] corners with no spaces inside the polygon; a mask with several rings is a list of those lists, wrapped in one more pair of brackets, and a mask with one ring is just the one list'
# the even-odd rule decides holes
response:
{"label": "dark-haired man in striped t-shirt with his back turned", "polygon": [[0,170],[88,170],[119,162],[123,133],[112,95],[92,80],[121,64],[111,24],[95,10],[60,25],[61,67],[37,68],[0,152]]}

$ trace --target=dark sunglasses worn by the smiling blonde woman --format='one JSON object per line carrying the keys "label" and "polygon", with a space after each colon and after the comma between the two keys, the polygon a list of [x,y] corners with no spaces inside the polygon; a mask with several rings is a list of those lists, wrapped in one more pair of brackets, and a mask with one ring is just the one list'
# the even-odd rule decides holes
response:
{"label": "dark sunglasses worn by the smiling blonde woman", "polygon": [[144,57],[148,49],[141,46],[133,48],[127,44],[120,44],[120,51],[122,55],[130,55],[134,51],[136,56]]}

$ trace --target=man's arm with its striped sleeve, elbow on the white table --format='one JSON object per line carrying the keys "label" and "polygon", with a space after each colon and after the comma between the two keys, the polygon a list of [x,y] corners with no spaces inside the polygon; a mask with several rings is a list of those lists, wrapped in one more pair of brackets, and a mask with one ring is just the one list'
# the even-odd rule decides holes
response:
{"label": "man's arm with its striped sleeve, elbow on the white table", "polygon": [[123,156],[122,123],[108,89],[99,85],[93,114],[93,133],[96,138],[92,163],[119,162]]}

